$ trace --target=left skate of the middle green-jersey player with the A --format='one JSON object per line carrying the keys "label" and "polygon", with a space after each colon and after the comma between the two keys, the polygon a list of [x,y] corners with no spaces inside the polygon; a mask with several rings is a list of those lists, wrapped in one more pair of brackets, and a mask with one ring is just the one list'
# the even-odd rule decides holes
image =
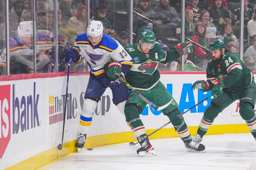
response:
{"label": "left skate of the middle green-jersey player with the A", "polygon": [[141,157],[156,156],[154,148],[149,142],[148,136],[144,139],[143,143],[141,144],[141,148],[137,150],[137,153]]}

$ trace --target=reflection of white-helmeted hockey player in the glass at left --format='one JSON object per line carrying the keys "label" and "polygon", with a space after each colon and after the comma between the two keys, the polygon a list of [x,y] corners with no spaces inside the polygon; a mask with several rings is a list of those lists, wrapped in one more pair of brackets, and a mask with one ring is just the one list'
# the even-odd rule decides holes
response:
{"label": "reflection of white-helmeted hockey player in the glass at left", "polygon": [[[10,72],[26,74],[34,72],[33,22],[23,21],[18,26],[18,36],[10,38]],[[50,56],[44,53],[45,45],[36,46],[36,73],[48,71]],[[0,56],[0,66],[6,66],[6,48]],[[6,70],[6,69],[2,69]],[[4,75],[1,73],[1,75]]]}

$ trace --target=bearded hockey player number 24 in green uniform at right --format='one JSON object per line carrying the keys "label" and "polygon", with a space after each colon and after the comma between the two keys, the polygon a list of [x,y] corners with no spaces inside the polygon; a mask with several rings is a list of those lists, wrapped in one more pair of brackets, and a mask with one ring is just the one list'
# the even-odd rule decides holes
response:
{"label": "bearded hockey player number 24 in green uniform at right", "polygon": [[193,137],[200,142],[218,114],[236,100],[240,100],[239,113],[245,120],[252,136],[256,140],[256,116],[253,111],[256,98],[256,84],[253,74],[240,58],[232,51],[226,51],[223,40],[215,39],[210,44],[212,60],[206,69],[207,81],[198,80],[192,89],[212,90],[214,99],[205,109],[197,134]]}

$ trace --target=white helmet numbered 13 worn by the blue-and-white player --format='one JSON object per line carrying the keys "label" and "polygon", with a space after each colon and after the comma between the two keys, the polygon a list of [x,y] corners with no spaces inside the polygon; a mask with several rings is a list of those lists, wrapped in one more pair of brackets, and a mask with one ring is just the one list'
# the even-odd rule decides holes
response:
{"label": "white helmet numbered 13 worn by the blue-and-white player", "polygon": [[87,27],[87,38],[89,39],[88,36],[91,37],[97,37],[101,36],[102,38],[102,33],[103,33],[103,25],[100,21],[92,21],[90,22],[89,26]]}

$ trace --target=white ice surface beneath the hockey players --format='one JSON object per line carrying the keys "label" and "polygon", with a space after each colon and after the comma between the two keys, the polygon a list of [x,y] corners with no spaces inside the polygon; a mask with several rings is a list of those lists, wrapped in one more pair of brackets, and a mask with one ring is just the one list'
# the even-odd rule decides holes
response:
{"label": "white ice surface beneath the hockey players", "polygon": [[206,152],[187,152],[180,138],[150,140],[156,156],[140,157],[139,144],[128,143],[83,149],[44,166],[50,169],[90,170],[256,170],[256,142],[251,133],[206,135]]}

